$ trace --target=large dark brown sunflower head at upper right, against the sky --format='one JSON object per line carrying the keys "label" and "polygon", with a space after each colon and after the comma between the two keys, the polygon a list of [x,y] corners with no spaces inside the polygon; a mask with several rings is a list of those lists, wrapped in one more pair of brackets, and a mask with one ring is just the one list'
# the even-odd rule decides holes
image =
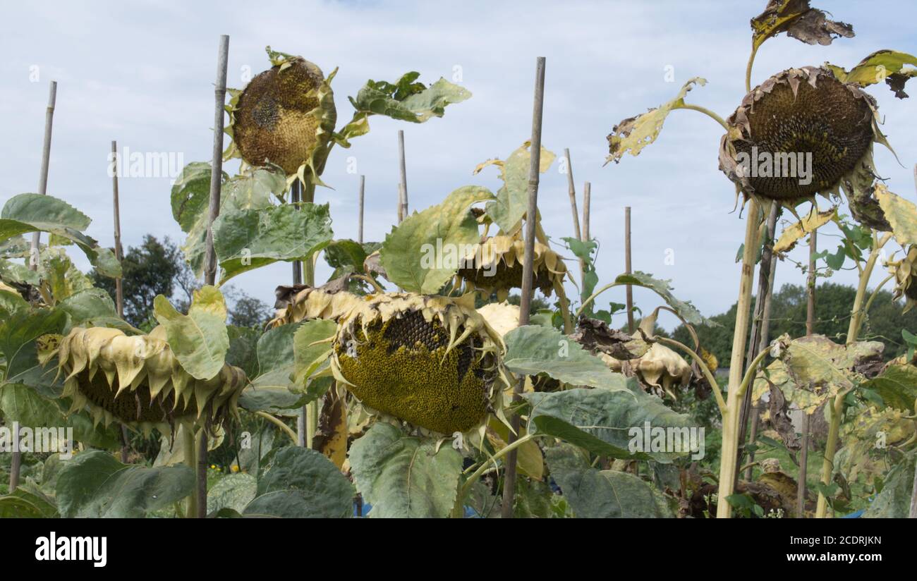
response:
{"label": "large dark brown sunflower head at upper right, against the sky", "polygon": [[[825,68],[779,72],[728,119],[720,169],[746,195],[795,205],[872,173],[876,102]],[[860,178],[862,179],[862,178]]]}

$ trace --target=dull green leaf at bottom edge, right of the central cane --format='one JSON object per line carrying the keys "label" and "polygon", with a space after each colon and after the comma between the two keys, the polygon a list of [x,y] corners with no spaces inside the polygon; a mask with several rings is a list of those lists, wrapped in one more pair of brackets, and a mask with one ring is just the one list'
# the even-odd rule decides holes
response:
{"label": "dull green leaf at bottom edge, right of the central cane", "polygon": [[633,474],[598,470],[575,446],[547,448],[547,467],[580,519],[654,519],[674,516],[660,495]]}

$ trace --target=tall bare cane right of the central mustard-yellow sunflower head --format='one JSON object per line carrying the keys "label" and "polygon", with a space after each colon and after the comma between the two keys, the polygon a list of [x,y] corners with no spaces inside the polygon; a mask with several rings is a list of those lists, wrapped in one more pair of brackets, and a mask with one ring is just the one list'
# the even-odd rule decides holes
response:
{"label": "tall bare cane right of the central mustard-yellow sunflower head", "polygon": [[[532,262],[535,258],[535,231],[538,220],[538,175],[541,172],[541,120],[545,108],[545,57],[538,57],[535,70],[535,104],[532,110],[532,148],[531,161],[528,166],[528,207],[525,212],[525,257],[522,270],[522,297],[519,301],[519,326],[528,324],[529,309],[532,305]],[[513,389],[513,403],[518,403],[522,398],[525,377],[519,378]],[[507,445],[513,444],[518,438],[521,421],[518,413],[513,414],[510,421],[513,429],[510,430]],[[513,518],[513,505],[515,500],[516,480],[516,450],[511,450],[506,455],[506,475],[503,479],[503,519]]]}

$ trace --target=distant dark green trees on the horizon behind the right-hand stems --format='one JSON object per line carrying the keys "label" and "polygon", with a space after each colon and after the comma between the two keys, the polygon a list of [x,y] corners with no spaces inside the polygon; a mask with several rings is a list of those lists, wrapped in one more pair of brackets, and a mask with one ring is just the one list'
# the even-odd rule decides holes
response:
{"label": "distant dark green trees on the horizon behind the right-hand stems", "polygon": [[[850,323],[850,309],[853,306],[856,289],[824,282],[815,290],[815,333],[824,334],[835,342],[844,342],[847,325]],[[778,337],[788,333],[791,337],[805,334],[806,291],[796,284],[785,284],[774,293],[770,311],[770,336]],[[903,303],[894,301],[889,291],[879,291],[869,308],[864,322],[861,340],[875,339],[886,344],[884,356],[890,359],[907,351],[901,339],[901,330],[913,332],[917,329],[917,310],[903,313]],[[701,345],[713,353],[721,366],[727,366],[732,355],[733,328],[735,327],[735,303],[728,311],[711,317],[721,326],[695,327]],[[693,345],[691,335],[684,326],[675,329],[673,336],[687,345]]]}

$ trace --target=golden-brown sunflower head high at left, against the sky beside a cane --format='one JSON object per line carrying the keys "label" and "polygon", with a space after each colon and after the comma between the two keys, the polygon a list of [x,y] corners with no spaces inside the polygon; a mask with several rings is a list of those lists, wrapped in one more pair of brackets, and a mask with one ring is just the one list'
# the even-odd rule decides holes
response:
{"label": "golden-brown sunflower head high at left, against the sky beside a cane", "polygon": [[230,101],[233,147],[249,165],[272,163],[288,176],[306,166],[317,176],[324,163],[321,150],[337,121],[330,85],[334,73],[326,80],[317,65],[302,57],[270,49],[269,54],[274,66]]}

